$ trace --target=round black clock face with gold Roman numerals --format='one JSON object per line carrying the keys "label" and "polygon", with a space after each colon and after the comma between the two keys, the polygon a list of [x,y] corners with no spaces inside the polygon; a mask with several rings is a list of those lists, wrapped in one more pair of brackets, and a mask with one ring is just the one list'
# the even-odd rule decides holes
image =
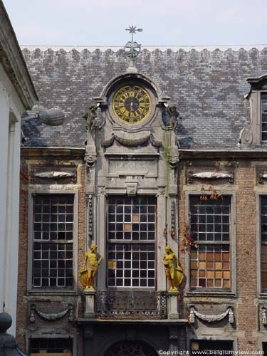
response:
{"label": "round black clock face with gold Roman numerals", "polygon": [[138,85],[126,85],[115,93],[112,108],[119,120],[136,124],[145,120],[150,113],[150,95]]}

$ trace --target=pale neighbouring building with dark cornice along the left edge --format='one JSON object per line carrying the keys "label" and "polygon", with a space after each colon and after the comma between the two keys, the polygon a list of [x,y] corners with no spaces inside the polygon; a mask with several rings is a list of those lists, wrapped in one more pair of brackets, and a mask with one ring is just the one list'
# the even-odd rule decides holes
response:
{"label": "pale neighbouring building with dark cornice along the left edge", "polygon": [[[38,100],[8,14],[0,1],[0,305],[16,333],[21,115]],[[13,281],[10,283],[10,281]]]}

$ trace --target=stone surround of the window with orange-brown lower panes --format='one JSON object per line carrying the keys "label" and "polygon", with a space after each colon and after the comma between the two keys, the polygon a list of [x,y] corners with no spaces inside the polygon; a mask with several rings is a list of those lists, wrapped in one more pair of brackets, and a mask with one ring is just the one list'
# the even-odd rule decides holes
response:
{"label": "stone surround of the window with orange-brown lower panes", "polygon": [[[190,256],[188,252],[186,253],[185,256],[185,273],[187,278],[187,283],[185,286],[185,292],[187,293],[188,296],[190,295],[218,295],[219,297],[229,297],[229,296],[235,296],[236,295],[236,192],[234,191],[220,191],[219,189],[217,190],[218,194],[221,195],[228,195],[231,197],[231,241],[230,241],[230,246],[231,246],[231,290],[230,291],[224,291],[224,290],[216,290],[216,288],[210,288],[209,290],[207,288],[204,288],[204,290],[191,290],[190,289]],[[185,211],[186,211],[186,222],[189,224],[189,209],[190,209],[190,196],[192,195],[201,195],[201,194],[210,194],[208,190],[206,191],[200,191],[200,190],[194,190],[190,192],[186,192],[186,201],[185,201]]]}

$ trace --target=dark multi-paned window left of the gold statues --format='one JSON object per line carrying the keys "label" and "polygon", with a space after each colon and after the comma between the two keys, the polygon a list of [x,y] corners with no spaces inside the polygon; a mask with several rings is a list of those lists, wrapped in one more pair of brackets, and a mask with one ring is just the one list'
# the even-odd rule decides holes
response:
{"label": "dark multi-paned window left of the gold statues", "polygon": [[73,194],[33,197],[33,287],[73,286]]}

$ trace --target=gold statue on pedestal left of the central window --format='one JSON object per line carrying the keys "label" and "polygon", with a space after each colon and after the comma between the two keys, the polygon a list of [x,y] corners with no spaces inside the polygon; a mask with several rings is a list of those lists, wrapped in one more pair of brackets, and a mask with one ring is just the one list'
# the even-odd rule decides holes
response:
{"label": "gold statue on pedestal left of the central window", "polygon": [[[103,260],[103,257],[96,251],[97,245],[90,246],[90,251],[85,253],[85,259],[83,261],[83,268],[80,270],[80,281],[85,286],[85,290],[95,290],[93,287],[93,281],[96,273],[98,272],[98,266]],[[86,269],[86,263],[88,261],[88,269]]]}

